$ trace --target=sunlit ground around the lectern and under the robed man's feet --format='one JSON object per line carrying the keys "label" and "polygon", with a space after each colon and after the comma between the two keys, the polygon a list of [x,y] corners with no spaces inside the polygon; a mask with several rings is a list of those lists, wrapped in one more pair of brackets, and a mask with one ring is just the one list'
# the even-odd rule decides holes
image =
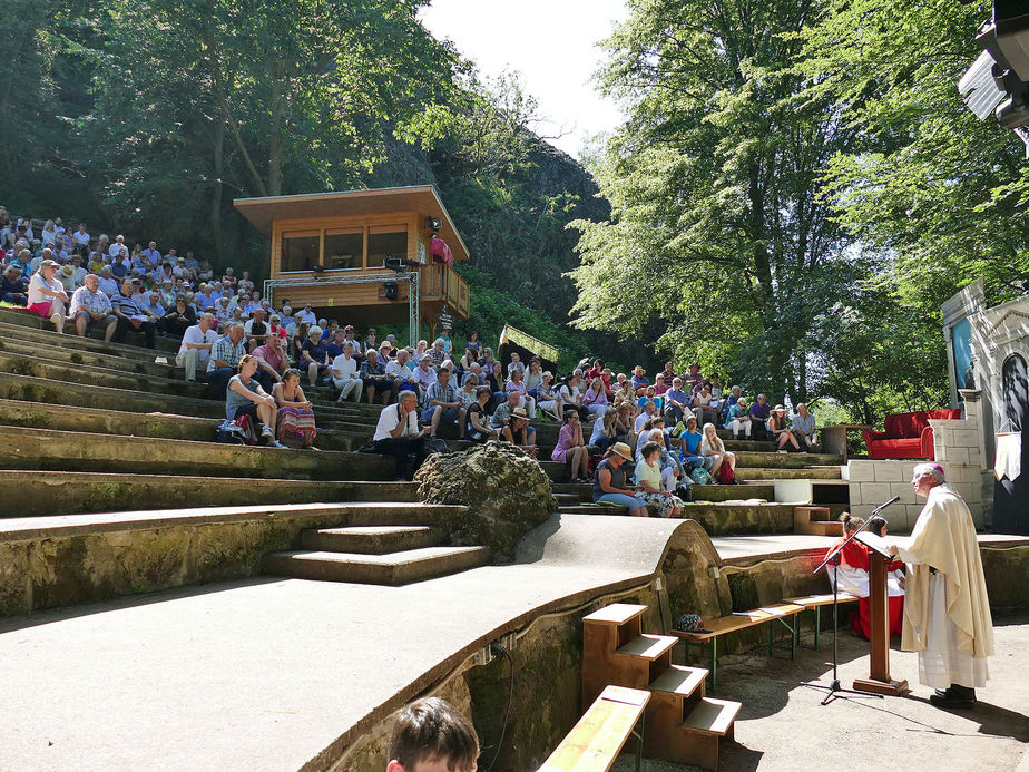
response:
{"label": "sunlit ground around the lectern and under the robed man's feet", "polygon": [[[894,651],[890,671],[906,678],[906,697],[870,696],[820,703],[825,692],[806,684],[832,680],[832,637],[822,651],[802,649],[797,662],[729,656],[718,668],[718,692],[743,702],[736,743],[726,744],[725,772],[796,770],[922,770],[1010,772],[1029,769],[1029,614],[997,619],[997,656],[973,711],[940,711],[918,683],[918,659]],[[896,639],[894,639],[896,641]],[[840,636],[840,680],[850,687],[868,673],[868,643]],[[851,695],[847,695],[850,697]],[[623,756],[615,772],[629,772]],[[644,772],[680,772],[680,764],[645,761]]]}

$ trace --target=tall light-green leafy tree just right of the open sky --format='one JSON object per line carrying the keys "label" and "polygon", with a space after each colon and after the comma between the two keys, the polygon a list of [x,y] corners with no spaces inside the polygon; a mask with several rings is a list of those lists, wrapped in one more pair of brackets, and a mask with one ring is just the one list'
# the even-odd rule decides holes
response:
{"label": "tall light-green leafy tree just right of the open sky", "polygon": [[600,74],[631,118],[597,170],[612,217],[576,223],[584,328],[656,343],[679,365],[728,369],[806,400],[824,352],[812,320],[852,292],[853,266],[820,196],[852,139],[792,75],[812,2],[638,0]]}

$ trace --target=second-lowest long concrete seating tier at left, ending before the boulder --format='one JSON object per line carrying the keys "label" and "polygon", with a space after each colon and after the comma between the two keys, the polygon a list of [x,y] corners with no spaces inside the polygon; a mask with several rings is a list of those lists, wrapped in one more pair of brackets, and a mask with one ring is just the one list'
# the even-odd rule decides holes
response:
{"label": "second-lowest long concrete seating tier at left, ending before the boulder", "polygon": [[311,480],[385,480],[374,453],[282,450],[125,434],[0,427],[0,468]]}

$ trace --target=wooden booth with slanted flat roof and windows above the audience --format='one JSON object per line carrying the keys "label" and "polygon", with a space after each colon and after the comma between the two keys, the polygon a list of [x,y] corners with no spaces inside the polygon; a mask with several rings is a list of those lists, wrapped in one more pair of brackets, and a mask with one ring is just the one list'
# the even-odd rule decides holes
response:
{"label": "wooden booth with slanted flat roof and windows above the audience", "polygon": [[468,319],[468,284],[450,264],[468,248],[432,185],[233,204],[271,241],[264,294],[275,307],[310,303],[342,325],[406,322],[412,345],[422,322]]}

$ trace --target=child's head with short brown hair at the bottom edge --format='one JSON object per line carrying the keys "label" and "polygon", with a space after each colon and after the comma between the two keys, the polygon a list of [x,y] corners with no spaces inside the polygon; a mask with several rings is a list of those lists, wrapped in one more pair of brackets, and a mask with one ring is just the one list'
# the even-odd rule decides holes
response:
{"label": "child's head with short brown hair at the bottom edge", "polygon": [[439,697],[418,700],[396,717],[386,772],[476,772],[479,739]]}

